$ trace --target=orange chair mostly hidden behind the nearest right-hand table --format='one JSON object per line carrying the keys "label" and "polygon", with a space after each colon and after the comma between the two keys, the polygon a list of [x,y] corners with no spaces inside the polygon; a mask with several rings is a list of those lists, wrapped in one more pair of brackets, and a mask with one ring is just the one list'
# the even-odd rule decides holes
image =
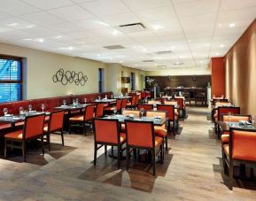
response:
{"label": "orange chair mostly hidden behind the nearest right-hand table", "polygon": [[[221,120],[228,122],[239,122],[240,120],[247,120],[251,122],[251,115],[235,114],[229,117],[227,114],[222,114]],[[229,132],[224,131],[221,133],[221,143],[229,143]]]}

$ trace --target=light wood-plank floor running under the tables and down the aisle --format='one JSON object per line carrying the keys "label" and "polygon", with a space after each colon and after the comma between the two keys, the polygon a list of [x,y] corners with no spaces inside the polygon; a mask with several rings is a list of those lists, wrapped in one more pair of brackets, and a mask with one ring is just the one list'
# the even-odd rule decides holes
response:
{"label": "light wood-plank floor running under the tables and down the aisle", "polygon": [[[0,200],[255,200],[256,182],[238,181],[230,191],[221,166],[221,144],[206,108],[190,107],[180,135],[170,136],[164,165],[156,176],[145,164],[117,161],[99,151],[93,166],[93,135],[52,135],[52,151],[28,151],[0,159]],[[224,182],[223,182],[224,181]],[[242,186],[241,186],[242,185]],[[253,187],[254,186],[254,187]]]}

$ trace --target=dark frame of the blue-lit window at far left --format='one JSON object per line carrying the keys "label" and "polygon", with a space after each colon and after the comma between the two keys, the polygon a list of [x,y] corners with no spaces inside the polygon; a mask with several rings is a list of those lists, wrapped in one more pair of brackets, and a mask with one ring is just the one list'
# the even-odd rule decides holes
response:
{"label": "dark frame of the blue-lit window at far left", "polygon": [[[1,80],[0,79],[0,84],[12,84],[12,83],[20,84],[20,100],[23,100],[23,59],[19,58],[19,57],[1,55],[1,54],[0,54],[0,59],[19,61],[20,62],[20,80],[19,81],[10,81],[10,80]],[[19,101],[19,100],[17,100],[17,101]],[[10,101],[0,102],[0,104],[8,103],[8,102],[10,102]]]}

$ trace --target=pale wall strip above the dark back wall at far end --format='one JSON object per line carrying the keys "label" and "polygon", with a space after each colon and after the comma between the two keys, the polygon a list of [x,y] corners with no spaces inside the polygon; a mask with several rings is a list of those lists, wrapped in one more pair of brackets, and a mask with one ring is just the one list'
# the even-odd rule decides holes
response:
{"label": "pale wall strip above the dark back wall at far end", "polygon": [[160,71],[147,71],[146,76],[166,76],[166,75],[206,75],[211,74],[208,67],[187,67],[187,68],[174,68]]}

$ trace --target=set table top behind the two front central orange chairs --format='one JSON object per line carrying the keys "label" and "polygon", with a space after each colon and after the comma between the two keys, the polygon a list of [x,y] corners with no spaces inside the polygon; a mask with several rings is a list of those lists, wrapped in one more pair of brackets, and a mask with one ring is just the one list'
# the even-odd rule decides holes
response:
{"label": "set table top behind the two front central orange chairs", "polygon": [[106,116],[104,119],[110,120],[119,120],[120,123],[124,123],[125,120],[136,120],[136,121],[152,121],[155,126],[162,126],[164,123],[167,122],[167,119],[157,119],[153,117],[142,117],[142,118],[131,118],[128,115],[116,114],[111,116]]}

